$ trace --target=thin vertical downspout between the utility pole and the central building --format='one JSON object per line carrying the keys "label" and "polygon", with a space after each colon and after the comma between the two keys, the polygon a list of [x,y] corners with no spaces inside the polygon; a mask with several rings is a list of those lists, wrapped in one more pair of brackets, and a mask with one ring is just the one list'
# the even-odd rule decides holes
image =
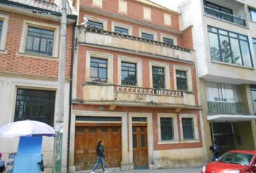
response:
{"label": "thin vertical downspout between the utility pole and the central building", "polygon": [[72,54],[71,54],[71,64],[70,64],[70,83],[69,83],[69,127],[67,134],[67,173],[69,172],[69,147],[70,147],[70,126],[71,126],[71,112],[72,112],[72,84],[73,84],[73,63],[74,63],[74,42],[75,42],[75,30],[76,23],[73,25],[73,35],[72,35]]}

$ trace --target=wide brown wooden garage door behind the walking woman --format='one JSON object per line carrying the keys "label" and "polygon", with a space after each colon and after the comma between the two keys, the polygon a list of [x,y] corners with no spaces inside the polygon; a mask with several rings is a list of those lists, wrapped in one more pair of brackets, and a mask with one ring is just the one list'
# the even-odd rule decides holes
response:
{"label": "wide brown wooden garage door behind the walking woman", "polygon": [[105,149],[105,167],[120,167],[120,127],[76,127],[74,165],[77,170],[93,169],[97,161],[96,146],[100,140]]}

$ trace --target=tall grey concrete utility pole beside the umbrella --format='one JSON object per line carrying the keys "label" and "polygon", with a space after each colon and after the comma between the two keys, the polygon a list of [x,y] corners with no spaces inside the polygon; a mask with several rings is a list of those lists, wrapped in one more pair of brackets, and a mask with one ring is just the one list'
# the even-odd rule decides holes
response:
{"label": "tall grey concrete utility pole beside the umbrella", "polygon": [[56,121],[54,138],[54,163],[53,173],[61,172],[62,139],[64,119],[64,89],[66,68],[66,44],[67,44],[67,0],[61,0],[61,43],[59,51],[58,89],[56,94]]}

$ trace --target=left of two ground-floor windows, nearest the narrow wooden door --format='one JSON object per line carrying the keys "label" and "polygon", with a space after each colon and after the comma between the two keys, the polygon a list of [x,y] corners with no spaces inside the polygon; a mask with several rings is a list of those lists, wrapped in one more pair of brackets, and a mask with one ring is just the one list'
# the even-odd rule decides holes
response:
{"label": "left of two ground-floor windows, nearest the narrow wooden door", "polygon": [[174,125],[172,117],[160,117],[161,141],[174,140]]}

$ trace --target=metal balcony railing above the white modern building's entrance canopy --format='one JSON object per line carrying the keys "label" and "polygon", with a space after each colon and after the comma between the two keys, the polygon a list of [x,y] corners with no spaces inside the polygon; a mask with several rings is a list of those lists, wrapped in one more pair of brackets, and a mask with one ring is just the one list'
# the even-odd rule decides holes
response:
{"label": "metal balcony railing above the white modern building's entrance canopy", "polygon": [[241,102],[210,102],[208,101],[208,114],[229,114],[229,115],[246,115],[249,110],[245,109]]}

